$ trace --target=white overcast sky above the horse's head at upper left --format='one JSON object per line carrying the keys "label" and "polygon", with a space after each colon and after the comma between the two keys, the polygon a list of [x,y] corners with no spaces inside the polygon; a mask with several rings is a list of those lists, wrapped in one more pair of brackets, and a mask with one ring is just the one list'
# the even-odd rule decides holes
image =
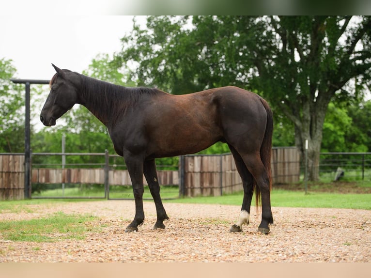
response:
{"label": "white overcast sky above the horse's head at upper left", "polygon": [[[32,1],[30,1],[32,2]],[[145,22],[145,16],[136,16]],[[0,59],[13,60],[17,78],[50,79],[60,68],[81,73],[99,53],[121,50],[133,16],[0,16]]]}

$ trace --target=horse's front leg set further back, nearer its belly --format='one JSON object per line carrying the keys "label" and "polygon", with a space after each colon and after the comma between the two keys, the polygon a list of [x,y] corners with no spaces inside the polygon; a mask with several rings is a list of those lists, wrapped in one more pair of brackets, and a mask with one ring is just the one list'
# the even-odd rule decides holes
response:
{"label": "horse's front leg set further back, nearer its belly", "polygon": [[165,219],[169,219],[169,217],[166,214],[165,208],[161,201],[160,185],[157,177],[155,159],[145,161],[143,170],[156,206],[157,221],[153,229],[165,229],[163,222]]}

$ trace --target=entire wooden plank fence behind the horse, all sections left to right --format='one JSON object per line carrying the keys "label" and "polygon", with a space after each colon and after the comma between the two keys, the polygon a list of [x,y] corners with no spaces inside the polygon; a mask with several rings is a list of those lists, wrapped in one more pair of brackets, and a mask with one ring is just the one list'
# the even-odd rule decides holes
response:
{"label": "entire wooden plank fence behind the horse, all sections left to right", "polygon": [[[158,171],[160,184],[179,185],[180,195],[219,196],[243,189],[232,154],[185,155],[181,161],[184,167],[179,171]],[[296,148],[273,148],[271,163],[274,184],[299,181],[300,162]],[[108,179],[106,179],[107,172]],[[24,176],[23,154],[1,154],[0,200],[23,199]],[[146,185],[144,177],[143,182]],[[31,184],[62,183],[131,185],[127,170],[113,170],[108,166],[96,169],[33,168],[31,170]]]}

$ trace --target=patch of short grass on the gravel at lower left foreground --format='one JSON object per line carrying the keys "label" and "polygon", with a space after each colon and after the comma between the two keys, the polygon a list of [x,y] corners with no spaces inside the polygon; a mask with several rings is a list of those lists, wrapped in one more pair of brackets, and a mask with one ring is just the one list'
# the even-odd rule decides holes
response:
{"label": "patch of short grass on the gravel at lower left foreground", "polygon": [[54,242],[60,239],[84,239],[97,227],[89,222],[97,217],[89,215],[66,215],[58,212],[52,216],[20,221],[0,222],[0,232],[5,240]]}

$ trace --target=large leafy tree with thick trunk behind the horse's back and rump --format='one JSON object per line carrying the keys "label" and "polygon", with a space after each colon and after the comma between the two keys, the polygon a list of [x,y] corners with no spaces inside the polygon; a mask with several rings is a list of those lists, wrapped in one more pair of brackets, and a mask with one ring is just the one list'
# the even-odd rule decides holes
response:
{"label": "large leafy tree with thick trunk behind the horse's back and rump", "polygon": [[358,98],[370,86],[370,16],[189,20],[149,17],[148,30],[135,25],[123,38],[116,60],[137,62],[135,74],[142,84],[171,93],[225,85],[260,93],[293,124],[302,153],[309,140],[309,180],[317,180],[330,101]]}

